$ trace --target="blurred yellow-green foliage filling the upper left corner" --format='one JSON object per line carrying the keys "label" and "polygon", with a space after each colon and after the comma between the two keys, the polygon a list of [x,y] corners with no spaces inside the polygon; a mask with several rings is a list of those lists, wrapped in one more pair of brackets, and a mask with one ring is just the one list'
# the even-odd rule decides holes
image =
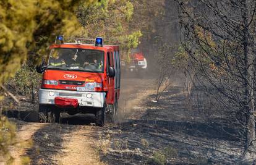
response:
{"label": "blurred yellow-green foliage filling the upper left corner", "polygon": [[[85,5],[91,0],[85,1]],[[79,29],[73,11],[78,0],[6,0],[0,2],[0,84],[26,61],[28,48],[43,50],[53,33],[70,35]],[[53,35],[53,36],[52,36]],[[35,40],[45,37],[41,43]],[[40,51],[44,52],[44,51]]]}

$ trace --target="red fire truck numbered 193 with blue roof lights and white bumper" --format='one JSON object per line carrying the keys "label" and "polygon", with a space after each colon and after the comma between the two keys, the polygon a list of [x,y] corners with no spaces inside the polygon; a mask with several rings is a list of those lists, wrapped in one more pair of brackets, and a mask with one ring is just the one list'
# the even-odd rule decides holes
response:
{"label": "red fire truck numbered 193 with blue roof lights and white bumper", "polygon": [[36,68],[43,73],[40,122],[58,122],[61,112],[95,114],[99,126],[104,125],[106,114],[114,121],[120,95],[119,46],[104,45],[103,38],[64,41],[58,36],[49,49],[46,62]]}

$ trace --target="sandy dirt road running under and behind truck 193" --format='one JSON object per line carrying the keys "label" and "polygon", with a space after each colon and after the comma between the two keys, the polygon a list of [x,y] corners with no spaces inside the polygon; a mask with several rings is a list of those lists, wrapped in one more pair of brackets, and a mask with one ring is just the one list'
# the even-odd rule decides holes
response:
{"label": "sandy dirt road running under and behind truck 193", "polygon": [[[142,106],[140,103],[143,99],[153,93],[152,84],[153,80],[150,79],[122,80],[119,122],[132,118],[136,108]],[[30,157],[32,164],[106,164],[101,159],[104,146],[101,136],[113,125],[96,127],[93,115],[62,114],[62,124],[40,124],[17,119],[12,121],[17,124],[20,142],[33,142],[30,146],[12,148],[14,164],[22,164],[24,156]]]}

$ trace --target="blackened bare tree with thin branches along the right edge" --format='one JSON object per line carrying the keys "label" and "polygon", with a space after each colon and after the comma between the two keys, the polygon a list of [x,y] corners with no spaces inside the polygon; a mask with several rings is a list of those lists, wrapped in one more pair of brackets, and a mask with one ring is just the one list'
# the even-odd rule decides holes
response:
{"label": "blackened bare tree with thin branches along the right edge", "polygon": [[[182,46],[198,82],[205,87],[234,125],[244,154],[253,154],[255,137],[256,1],[178,1]],[[201,80],[202,79],[202,80]],[[214,88],[218,93],[211,93]],[[223,113],[224,112],[224,113]],[[231,114],[231,115],[230,115]],[[237,118],[236,114],[241,114]]]}

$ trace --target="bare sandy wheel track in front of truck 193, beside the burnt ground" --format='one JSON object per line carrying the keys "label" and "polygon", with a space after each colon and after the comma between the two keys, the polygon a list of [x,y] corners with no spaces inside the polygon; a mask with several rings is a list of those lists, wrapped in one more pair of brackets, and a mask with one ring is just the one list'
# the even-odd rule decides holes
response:
{"label": "bare sandy wheel track in front of truck 193, beside the burnt ground", "polygon": [[58,164],[104,164],[96,152],[101,128],[79,125],[74,132],[64,136],[61,154],[56,156]]}

